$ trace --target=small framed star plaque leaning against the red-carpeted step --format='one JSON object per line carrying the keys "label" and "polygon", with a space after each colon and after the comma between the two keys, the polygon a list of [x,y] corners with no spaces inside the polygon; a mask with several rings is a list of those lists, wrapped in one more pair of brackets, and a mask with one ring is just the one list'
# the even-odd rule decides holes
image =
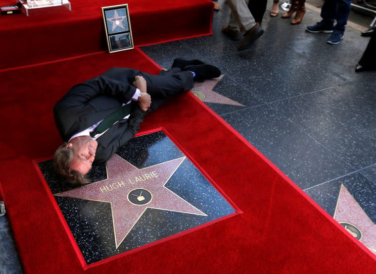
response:
{"label": "small framed star plaque leaning against the red-carpeted step", "polygon": [[102,7],[107,46],[110,53],[133,48],[128,5]]}

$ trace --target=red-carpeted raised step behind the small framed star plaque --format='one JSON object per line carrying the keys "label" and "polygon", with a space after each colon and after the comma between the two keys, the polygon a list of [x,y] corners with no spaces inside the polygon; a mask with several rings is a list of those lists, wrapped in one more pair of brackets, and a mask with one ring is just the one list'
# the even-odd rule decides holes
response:
{"label": "red-carpeted raised step behind the small framed star plaque", "polygon": [[71,12],[2,16],[0,69],[107,49],[101,7],[126,3],[135,46],[211,34],[210,0],[71,0]]}

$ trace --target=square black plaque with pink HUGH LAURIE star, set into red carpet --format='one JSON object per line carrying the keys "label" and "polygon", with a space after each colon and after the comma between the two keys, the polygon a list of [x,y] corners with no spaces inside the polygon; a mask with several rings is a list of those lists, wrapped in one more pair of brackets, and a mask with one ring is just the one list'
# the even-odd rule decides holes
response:
{"label": "square black plaque with pink HUGH LAURIE star, set into red carpet", "polygon": [[52,160],[38,166],[87,265],[239,213],[164,130],[134,137],[106,163],[94,163],[84,186],[59,177]]}

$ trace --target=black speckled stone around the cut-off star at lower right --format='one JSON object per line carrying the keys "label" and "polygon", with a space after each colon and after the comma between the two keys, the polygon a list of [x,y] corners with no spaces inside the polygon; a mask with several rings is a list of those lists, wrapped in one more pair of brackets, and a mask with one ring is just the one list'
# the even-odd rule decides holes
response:
{"label": "black speckled stone around the cut-off star at lower right", "polygon": [[332,216],[343,184],[373,223],[376,223],[376,185],[359,172],[315,186],[305,192]]}

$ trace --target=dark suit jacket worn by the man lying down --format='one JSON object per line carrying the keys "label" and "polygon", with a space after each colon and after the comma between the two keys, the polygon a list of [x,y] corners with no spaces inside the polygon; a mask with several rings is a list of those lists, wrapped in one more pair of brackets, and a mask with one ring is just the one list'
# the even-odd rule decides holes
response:
{"label": "dark suit jacket worn by the man lying down", "polygon": [[[105,73],[75,85],[55,105],[55,122],[65,142],[74,134],[103,120],[132,98],[136,88],[129,83],[133,83],[138,70],[121,69],[121,72],[122,81],[110,78],[111,75],[108,77]],[[108,160],[138,131],[145,113],[139,109],[136,102],[132,101],[131,104],[129,119],[119,121],[97,139],[96,160]]]}

